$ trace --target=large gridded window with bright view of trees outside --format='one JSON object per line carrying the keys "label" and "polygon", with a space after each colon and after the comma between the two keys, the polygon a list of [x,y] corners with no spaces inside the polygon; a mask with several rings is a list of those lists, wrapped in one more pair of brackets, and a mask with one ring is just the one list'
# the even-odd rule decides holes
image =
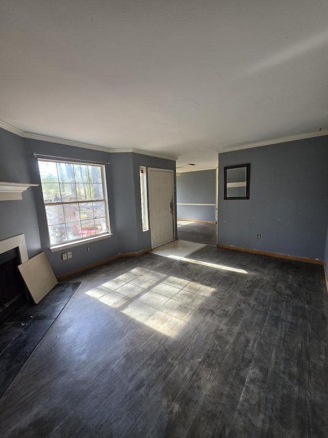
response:
{"label": "large gridded window with bright view of trees outside", "polygon": [[50,246],[110,233],[105,166],[38,160]]}

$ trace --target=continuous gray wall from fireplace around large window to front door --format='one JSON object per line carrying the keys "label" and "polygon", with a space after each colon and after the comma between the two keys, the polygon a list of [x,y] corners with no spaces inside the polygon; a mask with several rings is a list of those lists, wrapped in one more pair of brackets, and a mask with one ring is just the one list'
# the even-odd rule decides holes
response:
{"label": "continuous gray wall from fireplace around large window to front door", "polygon": [[[52,253],[37,159],[33,153],[109,162],[106,179],[112,237]],[[63,144],[22,139],[0,129],[0,181],[30,182],[23,201],[1,201],[0,240],[25,234],[29,257],[45,251],[56,275],[63,274],[119,253],[136,252],[151,246],[150,232],[142,233],[139,166],[175,169],[175,161],[133,153],[111,154]],[[34,195],[34,196],[33,196]],[[90,252],[87,252],[90,246]],[[62,252],[72,258],[61,260]]]}

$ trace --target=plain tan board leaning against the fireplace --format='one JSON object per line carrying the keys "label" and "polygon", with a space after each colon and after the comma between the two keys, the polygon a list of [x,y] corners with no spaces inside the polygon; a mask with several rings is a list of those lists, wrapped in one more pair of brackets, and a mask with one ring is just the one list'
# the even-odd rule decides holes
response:
{"label": "plain tan board leaning against the fireplace", "polygon": [[45,253],[20,264],[18,269],[35,304],[58,283]]}

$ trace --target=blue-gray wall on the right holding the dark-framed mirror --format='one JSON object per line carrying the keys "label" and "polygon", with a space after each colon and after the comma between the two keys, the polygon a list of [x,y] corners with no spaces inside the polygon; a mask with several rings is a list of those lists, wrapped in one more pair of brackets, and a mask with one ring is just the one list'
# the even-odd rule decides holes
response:
{"label": "blue-gray wall on the right holding the dark-framed mirror", "polygon": [[[224,166],[244,163],[250,199],[224,200]],[[327,136],[219,154],[218,242],[323,260],[327,164]]]}

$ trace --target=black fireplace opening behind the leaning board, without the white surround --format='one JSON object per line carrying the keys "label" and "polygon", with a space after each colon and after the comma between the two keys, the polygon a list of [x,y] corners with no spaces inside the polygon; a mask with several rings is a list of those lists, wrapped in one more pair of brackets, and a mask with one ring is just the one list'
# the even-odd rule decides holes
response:
{"label": "black fireplace opening behind the leaning board, without the white surround", "polygon": [[19,264],[17,247],[0,254],[0,324],[28,300],[24,281],[17,269]]}

